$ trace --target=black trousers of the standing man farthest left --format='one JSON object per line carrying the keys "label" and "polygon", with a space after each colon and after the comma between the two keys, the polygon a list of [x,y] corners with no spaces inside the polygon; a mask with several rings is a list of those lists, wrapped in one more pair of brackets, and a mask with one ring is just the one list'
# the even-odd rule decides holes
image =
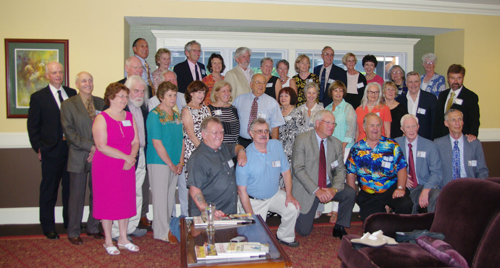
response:
{"label": "black trousers of the standing man farthest left", "polygon": [[66,170],[68,147],[65,140],[62,143],[62,153],[56,157],[41,153],[39,206],[43,233],[55,231],[54,207],[59,183],[62,186],[62,219],[64,227],[68,225],[69,173]]}

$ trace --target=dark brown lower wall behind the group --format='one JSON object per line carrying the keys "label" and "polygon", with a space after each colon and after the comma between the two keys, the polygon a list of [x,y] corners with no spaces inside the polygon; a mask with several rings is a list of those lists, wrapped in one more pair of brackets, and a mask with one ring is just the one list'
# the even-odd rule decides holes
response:
{"label": "dark brown lower wall behind the group", "polygon": [[[482,142],[482,147],[489,176],[499,177],[500,141]],[[0,208],[38,206],[41,168],[31,148],[0,149],[0,170]],[[60,194],[56,205],[61,205]]]}

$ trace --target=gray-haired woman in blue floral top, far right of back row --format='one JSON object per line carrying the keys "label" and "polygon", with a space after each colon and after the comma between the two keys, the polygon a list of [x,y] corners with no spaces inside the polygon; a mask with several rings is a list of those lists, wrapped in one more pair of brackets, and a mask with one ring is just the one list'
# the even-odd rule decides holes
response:
{"label": "gray-haired woman in blue floral top, far right of back row", "polygon": [[438,97],[439,92],[446,90],[446,81],[444,80],[444,76],[434,71],[436,63],[437,56],[434,53],[425,53],[422,55],[422,65],[425,69],[425,74],[420,76],[420,88]]}

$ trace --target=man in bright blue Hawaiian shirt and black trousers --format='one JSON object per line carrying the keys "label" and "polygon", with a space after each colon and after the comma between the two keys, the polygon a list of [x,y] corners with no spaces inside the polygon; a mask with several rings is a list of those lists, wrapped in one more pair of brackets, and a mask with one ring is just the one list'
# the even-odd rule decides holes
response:
{"label": "man in bright blue Hawaiian shirt and black trousers", "polygon": [[354,143],[345,162],[347,184],[356,189],[359,216],[364,222],[373,213],[385,212],[385,205],[395,213],[410,214],[413,202],[406,188],[406,160],[399,144],[382,136],[382,120],[373,112],[363,118],[366,136]]}

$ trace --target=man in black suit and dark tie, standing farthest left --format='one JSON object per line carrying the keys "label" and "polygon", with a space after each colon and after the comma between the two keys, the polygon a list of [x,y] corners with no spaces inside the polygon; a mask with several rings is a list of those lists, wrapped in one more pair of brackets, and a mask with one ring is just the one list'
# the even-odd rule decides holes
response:
{"label": "man in black suit and dark tie, standing farthest left", "polygon": [[40,223],[43,234],[58,239],[55,231],[54,207],[59,182],[62,185],[62,219],[68,224],[69,174],[66,171],[68,146],[62,134],[60,105],[76,95],[76,90],[63,86],[64,69],[56,61],[45,67],[46,87],[31,94],[26,121],[29,142],[41,161]]}

